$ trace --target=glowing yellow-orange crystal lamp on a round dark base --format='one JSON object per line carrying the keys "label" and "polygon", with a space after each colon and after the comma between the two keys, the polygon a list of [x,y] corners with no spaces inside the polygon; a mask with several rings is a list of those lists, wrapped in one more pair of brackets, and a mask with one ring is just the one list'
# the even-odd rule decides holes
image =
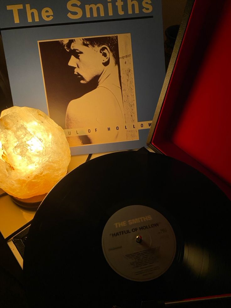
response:
{"label": "glowing yellow-orange crystal lamp on a round dark base", "polygon": [[38,109],[13,106],[0,116],[0,187],[17,204],[38,207],[67,173],[63,129]]}

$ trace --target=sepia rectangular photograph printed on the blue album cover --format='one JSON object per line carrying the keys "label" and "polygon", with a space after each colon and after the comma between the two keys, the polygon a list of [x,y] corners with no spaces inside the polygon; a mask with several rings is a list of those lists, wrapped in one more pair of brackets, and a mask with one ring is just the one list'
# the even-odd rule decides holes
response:
{"label": "sepia rectangular photograph printed on the blue album cover", "polygon": [[[58,43],[59,46],[54,45],[57,46],[57,50],[62,48],[60,52],[65,57],[65,68],[61,64],[63,72],[68,70],[69,75],[71,74],[69,78],[73,79],[72,84],[67,83],[67,86],[70,91],[75,88],[78,94],[75,95],[73,92],[69,100],[68,97],[66,98],[65,123],[61,125],[74,132],[73,135],[67,136],[70,146],[137,139],[134,132],[129,134],[126,127],[128,120],[137,121],[129,38],[130,35],[121,34],[39,42],[47,105],[54,121],[56,119],[52,116],[52,112],[54,115],[58,114],[57,110],[62,103],[57,104],[56,100],[52,105],[54,100],[52,96],[54,97],[56,90],[59,89],[54,81],[51,81],[53,80],[50,78],[51,73],[47,73],[48,64],[46,63],[51,67],[50,61],[46,60],[48,48],[45,49],[44,46],[47,43]],[[58,70],[57,73],[60,74]],[[53,73],[53,75],[56,79],[57,74]],[[65,75],[62,78],[65,82]],[[51,82],[53,82],[52,86]],[[64,97],[63,94],[61,96]],[[59,116],[60,114],[61,111]]]}

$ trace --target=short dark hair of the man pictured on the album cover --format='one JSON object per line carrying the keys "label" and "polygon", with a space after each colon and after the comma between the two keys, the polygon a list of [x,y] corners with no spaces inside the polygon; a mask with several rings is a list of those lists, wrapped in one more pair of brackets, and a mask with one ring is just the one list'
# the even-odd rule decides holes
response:
{"label": "short dark hair of the man pictured on the album cover", "polygon": [[[69,51],[71,48],[71,44],[74,42],[74,39],[71,40],[61,40],[62,45],[65,46],[66,50]],[[91,46],[91,47],[100,47],[100,46],[108,46],[114,59],[115,64],[119,65],[120,57],[119,57],[119,48],[118,48],[118,38],[117,35],[112,36],[95,36],[89,38],[82,38],[83,45]]]}

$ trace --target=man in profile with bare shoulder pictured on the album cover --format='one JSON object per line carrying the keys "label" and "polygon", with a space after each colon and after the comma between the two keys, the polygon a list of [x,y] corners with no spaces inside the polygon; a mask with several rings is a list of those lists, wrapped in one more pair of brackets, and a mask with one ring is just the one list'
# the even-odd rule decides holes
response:
{"label": "man in profile with bare shoulder pictured on the album cover", "polygon": [[[125,118],[119,72],[117,36],[75,38],[61,41],[70,53],[69,66],[77,82],[95,81],[96,88],[70,101],[66,112],[66,128],[91,127],[87,143],[126,141]],[[110,127],[110,132],[105,129]],[[97,130],[101,128],[100,133]],[[112,130],[113,127],[119,129]],[[70,145],[86,142],[86,138],[69,140]]]}

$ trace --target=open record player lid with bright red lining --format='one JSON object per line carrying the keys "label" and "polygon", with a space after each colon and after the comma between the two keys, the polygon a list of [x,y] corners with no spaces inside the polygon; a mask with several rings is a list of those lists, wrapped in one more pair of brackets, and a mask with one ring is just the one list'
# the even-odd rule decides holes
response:
{"label": "open record player lid with bright red lining", "polygon": [[184,161],[231,199],[231,2],[189,0],[147,145]]}

